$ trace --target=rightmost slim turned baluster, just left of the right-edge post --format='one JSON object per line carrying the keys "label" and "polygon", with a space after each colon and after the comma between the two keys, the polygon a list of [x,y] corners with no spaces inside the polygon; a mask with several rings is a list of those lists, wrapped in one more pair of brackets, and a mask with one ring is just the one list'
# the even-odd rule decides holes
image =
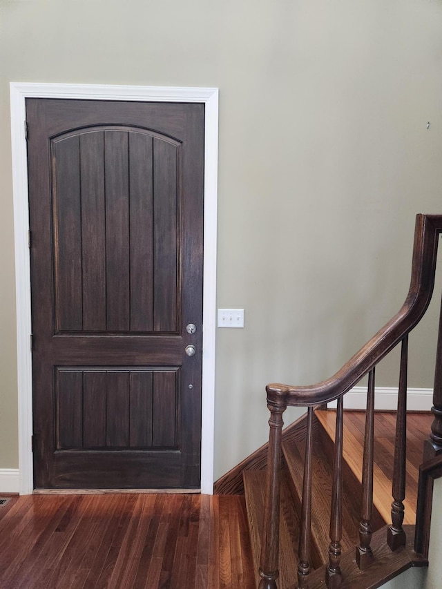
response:
{"label": "rightmost slim turned baluster, just left of the right-edge post", "polygon": [[387,530],[387,544],[391,550],[405,545],[407,540],[402,527],[405,499],[405,467],[407,458],[407,354],[408,336],[402,340],[401,374],[399,375],[398,411],[396,414],[396,441],[394,446],[392,525]]}

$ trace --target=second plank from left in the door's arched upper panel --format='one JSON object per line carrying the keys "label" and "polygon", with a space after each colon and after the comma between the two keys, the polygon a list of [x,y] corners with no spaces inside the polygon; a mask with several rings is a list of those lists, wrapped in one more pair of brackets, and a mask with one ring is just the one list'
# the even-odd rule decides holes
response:
{"label": "second plank from left in the door's arched upper panel", "polygon": [[106,330],[104,133],[80,135],[83,329]]}

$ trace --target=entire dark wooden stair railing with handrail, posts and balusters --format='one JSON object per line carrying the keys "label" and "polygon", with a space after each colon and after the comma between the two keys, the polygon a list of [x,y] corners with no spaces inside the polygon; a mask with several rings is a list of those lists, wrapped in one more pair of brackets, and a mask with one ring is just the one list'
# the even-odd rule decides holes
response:
{"label": "entire dark wooden stair railing with handrail, posts and balusters", "polygon": [[[372,537],[371,518],[373,505],[375,367],[399,342],[402,342],[402,349],[398,387],[398,411],[396,416],[394,476],[392,483],[392,525],[387,530],[387,544],[391,550],[396,550],[405,544],[406,538],[402,523],[404,517],[403,501],[405,499],[405,439],[407,429],[407,342],[408,334],[419,323],[430,304],[434,289],[434,273],[440,233],[442,233],[442,215],[416,216],[412,276],[410,289],[403,306],[334,376],[317,385],[299,387],[282,384],[267,385],[267,407],[269,407],[270,411],[270,436],[267,461],[265,519],[260,561],[260,589],[276,589],[277,587],[282,414],[288,406],[308,408],[298,561],[298,588],[307,589],[311,561],[311,419],[314,406],[324,405],[336,399],[338,400],[338,410],[336,412],[329,564],[327,566],[325,581],[329,589],[334,589],[343,582],[343,573],[340,570],[343,484],[343,397],[366,374],[369,374],[369,382],[363,458],[363,502],[361,523],[359,525],[360,543],[356,548],[356,562],[361,569],[367,568],[372,563],[374,557],[370,547],[370,541]],[[432,412],[434,414],[434,422],[431,427],[430,441],[427,442],[425,447],[425,460],[430,462],[434,456],[440,457],[442,453],[442,313],[436,355],[433,403]],[[421,508],[421,512],[423,513],[423,508]],[[424,520],[425,516],[422,515],[421,521]],[[416,534],[419,535],[419,530],[417,529]]]}

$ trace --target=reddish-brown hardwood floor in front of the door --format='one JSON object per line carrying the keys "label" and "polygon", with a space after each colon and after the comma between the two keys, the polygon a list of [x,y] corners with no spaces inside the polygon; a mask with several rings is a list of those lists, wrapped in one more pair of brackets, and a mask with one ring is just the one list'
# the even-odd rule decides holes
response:
{"label": "reddish-brown hardwood floor in front of the door", "polygon": [[253,589],[244,496],[13,497],[1,589]]}

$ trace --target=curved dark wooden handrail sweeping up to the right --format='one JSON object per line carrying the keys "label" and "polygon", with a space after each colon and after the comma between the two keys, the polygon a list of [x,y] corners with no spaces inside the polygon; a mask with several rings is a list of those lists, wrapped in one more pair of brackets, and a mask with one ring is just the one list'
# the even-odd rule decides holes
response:
{"label": "curved dark wooden handrail sweeping up to the right", "polygon": [[434,288],[434,271],[442,215],[416,215],[412,278],[401,310],[372,337],[334,376],[317,385],[267,385],[271,405],[309,407],[323,405],[345,394],[419,323]]}

